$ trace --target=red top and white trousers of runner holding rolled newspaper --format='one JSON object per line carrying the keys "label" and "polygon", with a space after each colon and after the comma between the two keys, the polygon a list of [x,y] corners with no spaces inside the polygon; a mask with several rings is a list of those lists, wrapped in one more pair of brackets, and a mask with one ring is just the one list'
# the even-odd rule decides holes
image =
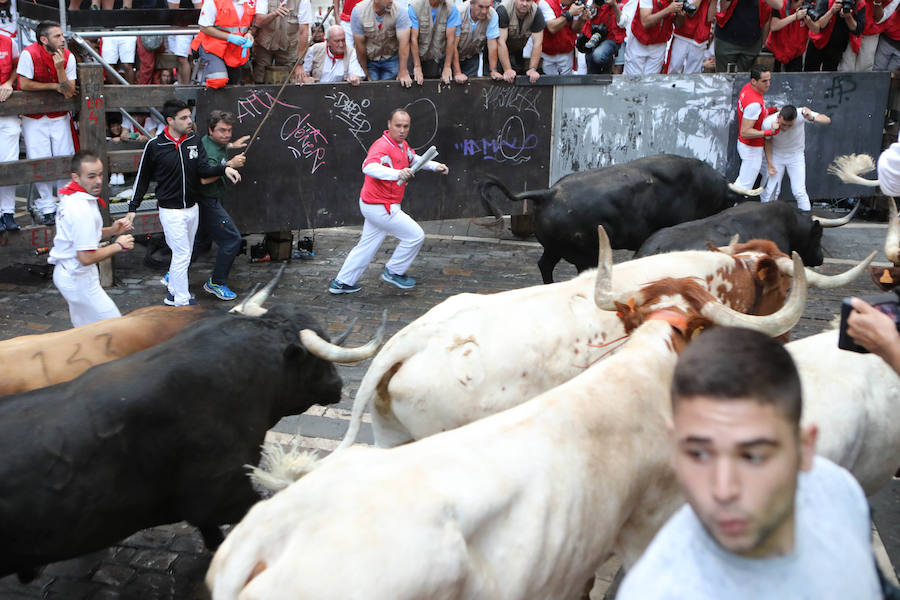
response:
{"label": "red top and white trousers of runner holding rolled newspaper", "polygon": [[[335,279],[339,283],[354,285],[384,241],[387,234],[400,240],[385,267],[397,275],[406,273],[425,242],[425,232],[400,208],[406,182],[399,182],[400,171],[408,168],[419,157],[406,141],[398,144],[385,131],[369,148],[363,161],[363,182],[359,198],[359,210],[365,218],[362,236],[347,255]],[[439,163],[428,161],[423,169],[435,171]]]}

